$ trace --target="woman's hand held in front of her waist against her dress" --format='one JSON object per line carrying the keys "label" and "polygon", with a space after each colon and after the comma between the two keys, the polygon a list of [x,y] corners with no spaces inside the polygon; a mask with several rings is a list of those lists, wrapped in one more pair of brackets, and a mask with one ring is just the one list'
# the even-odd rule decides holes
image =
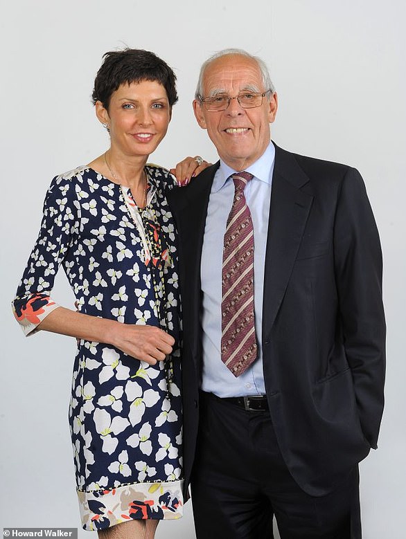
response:
{"label": "woman's hand held in front of her waist against her dress", "polygon": [[155,365],[170,354],[175,339],[159,327],[136,324],[114,325],[109,341],[133,358]]}

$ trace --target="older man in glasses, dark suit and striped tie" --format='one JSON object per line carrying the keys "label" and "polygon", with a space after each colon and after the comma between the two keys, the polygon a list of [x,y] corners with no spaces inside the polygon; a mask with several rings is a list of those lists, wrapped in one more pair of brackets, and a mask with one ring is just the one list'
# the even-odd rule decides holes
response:
{"label": "older man in glasses, dark suit and striped tie", "polygon": [[169,195],[182,259],[184,474],[198,539],[360,538],[385,319],[360,174],[274,145],[261,60],[202,66],[193,107],[220,162]]}

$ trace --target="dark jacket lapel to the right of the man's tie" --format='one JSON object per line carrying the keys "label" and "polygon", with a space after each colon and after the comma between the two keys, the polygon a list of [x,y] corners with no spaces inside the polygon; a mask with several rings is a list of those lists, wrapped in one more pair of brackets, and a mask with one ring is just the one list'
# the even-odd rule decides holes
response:
{"label": "dark jacket lapel to the right of the man's tie", "polygon": [[270,338],[292,273],[313,196],[294,155],[275,145],[263,291],[263,343]]}

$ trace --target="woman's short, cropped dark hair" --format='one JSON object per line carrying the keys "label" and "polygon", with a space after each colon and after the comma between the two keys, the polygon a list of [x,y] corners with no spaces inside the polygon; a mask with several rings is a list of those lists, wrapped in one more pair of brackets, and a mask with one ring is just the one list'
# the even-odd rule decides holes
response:
{"label": "woman's short, cropped dark hair", "polygon": [[131,84],[143,80],[157,81],[166,89],[170,108],[177,102],[176,75],[173,70],[154,53],[138,48],[125,48],[123,51],[110,51],[103,55],[94,90],[91,95],[93,104],[100,101],[108,110],[112,93],[121,84]]}

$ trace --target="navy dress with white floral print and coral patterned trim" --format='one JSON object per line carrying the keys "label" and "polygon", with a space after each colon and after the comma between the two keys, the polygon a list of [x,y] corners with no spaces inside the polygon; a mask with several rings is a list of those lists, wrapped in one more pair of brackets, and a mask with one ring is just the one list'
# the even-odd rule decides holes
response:
{"label": "navy dress with white floral print and coral patterned trim", "polygon": [[55,177],[13,302],[24,333],[35,333],[58,307],[51,290],[62,264],[80,312],[158,326],[177,342],[153,366],[109,344],[78,343],[69,422],[87,530],[182,516],[177,253],[164,194],[174,181],[155,165],[145,172],[143,210],[129,188],[89,167]]}

